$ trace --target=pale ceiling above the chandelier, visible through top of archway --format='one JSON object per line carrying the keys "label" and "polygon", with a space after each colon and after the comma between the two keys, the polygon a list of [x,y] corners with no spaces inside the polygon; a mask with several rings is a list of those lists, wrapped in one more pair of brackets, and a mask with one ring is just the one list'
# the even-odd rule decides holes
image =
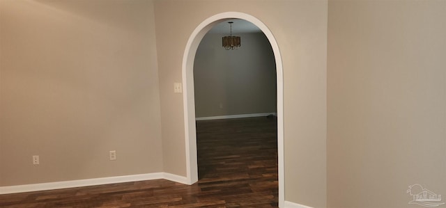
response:
{"label": "pale ceiling above the chandelier, visible through top of archway", "polygon": [[259,29],[256,25],[251,22],[246,21],[245,19],[228,19],[224,22],[216,24],[210,29],[209,33],[229,33],[229,23],[234,22],[232,24],[232,33],[259,33],[261,29]]}

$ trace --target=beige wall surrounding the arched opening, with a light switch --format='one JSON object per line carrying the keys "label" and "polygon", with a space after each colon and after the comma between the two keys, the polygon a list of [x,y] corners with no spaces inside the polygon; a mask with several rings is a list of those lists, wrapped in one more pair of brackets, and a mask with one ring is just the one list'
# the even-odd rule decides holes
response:
{"label": "beige wall surrounding the arched opening, with a light switch", "polygon": [[[228,6],[236,6],[229,8]],[[182,80],[188,38],[205,19],[241,12],[260,19],[284,69],[285,200],[326,207],[327,1],[155,1],[164,171],[186,175]]]}

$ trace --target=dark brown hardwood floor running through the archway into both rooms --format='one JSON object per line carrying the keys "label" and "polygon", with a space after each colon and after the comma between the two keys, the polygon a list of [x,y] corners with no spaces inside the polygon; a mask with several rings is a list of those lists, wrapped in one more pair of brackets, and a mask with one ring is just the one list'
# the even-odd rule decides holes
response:
{"label": "dark brown hardwood floor running through the archway into both rooms", "polygon": [[277,207],[275,117],[197,122],[199,182],[157,179],[0,195],[0,207]]}

